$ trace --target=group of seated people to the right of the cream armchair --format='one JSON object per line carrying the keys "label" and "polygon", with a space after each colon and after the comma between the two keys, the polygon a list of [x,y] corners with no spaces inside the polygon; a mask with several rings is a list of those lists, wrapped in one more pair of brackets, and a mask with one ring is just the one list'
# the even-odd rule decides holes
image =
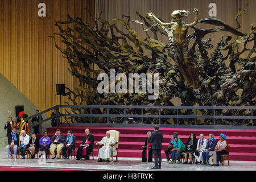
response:
{"label": "group of seated people to the right of the cream armchair", "polygon": [[[147,138],[144,143],[142,151],[142,162],[152,162],[152,143],[149,143],[151,138],[151,132],[147,132]],[[209,134],[209,140],[204,137],[204,134],[200,134],[199,140],[196,139],[196,134],[191,133],[187,142],[181,142],[177,133],[172,135],[168,148],[164,150],[167,158],[167,163],[174,164],[175,156],[176,163],[180,163],[180,154],[184,152],[185,162],[184,164],[192,164],[192,159],[196,159],[197,165],[210,165],[210,155],[214,152],[216,155],[216,164],[210,166],[219,166],[219,162],[222,163],[221,156],[229,154],[228,144],[226,143],[226,135],[220,134],[220,140],[217,142],[212,133]],[[169,155],[171,154],[171,159]],[[189,156],[189,162],[188,162]]]}

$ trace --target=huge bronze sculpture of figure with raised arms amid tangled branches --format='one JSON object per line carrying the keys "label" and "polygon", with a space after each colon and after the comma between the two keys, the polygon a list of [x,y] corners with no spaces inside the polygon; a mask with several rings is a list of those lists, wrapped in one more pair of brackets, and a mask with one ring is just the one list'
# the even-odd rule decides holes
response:
{"label": "huge bronze sculpture of figure with raised arms amid tangled branches", "polygon": [[[69,89],[69,101],[77,104],[77,98],[80,98],[80,104],[86,101],[86,105],[174,105],[171,99],[179,97],[181,105],[187,106],[255,105],[256,28],[252,26],[247,35],[242,34],[238,28],[232,28],[216,18],[199,20],[198,10],[194,11],[195,22],[191,24],[185,24],[181,20],[189,14],[188,11],[174,11],[171,23],[163,23],[152,13],[147,14],[145,18],[138,12],[137,15],[142,22],[131,21],[129,16],[123,16],[122,19],[115,18],[114,23],[109,23],[98,17],[94,18],[95,28],[82,22],[81,18],[73,19],[69,15],[67,22],[56,20],[55,24],[60,31],[51,37],[55,39],[56,36],[60,36],[62,39],[65,47],[60,47],[57,43],[56,47],[68,60],[69,72],[80,81],[75,90]],[[240,15],[241,12],[238,12],[237,16]],[[146,34],[145,39],[137,36],[131,22],[141,24]],[[121,23],[126,31],[121,31],[117,23]],[[213,24],[218,27],[199,29],[195,27],[196,23]],[[63,28],[63,24],[72,24],[73,27]],[[187,35],[188,27],[193,28],[195,32]],[[229,31],[236,38],[222,36],[214,47],[210,44],[210,39],[203,38],[206,34],[216,31]],[[149,32],[152,32],[153,38],[149,36]],[[166,35],[170,42],[159,40],[158,33]],[[188,47],[191,40],[194,40],[192,47]],[[249,42],[254,44],[253,47],[247,45]],[[241,51],[238,51],[238,45],[243,47]],[[214,51],[209,54],[209,49],[213,48]],[[150,54],[146,51],[150,51]],[[224,52],[228,54],[224,56]],[[246,59],[241,57],[244,52],[248,52]],[[171,64],[171,60],[174,60],[175,65]],[[229,67],[226,67],[226,61]],[[97,65],[100,71],[93,70],[90,67],[92,64]],[[240,67],[237,67],[238,64]],[[110,69],[125,75],[159,73],[159,98],[148,100],[147,93],[98,93],[99,81],[92,73],[97,76],[100,72],[105,72],[110,76]],[[90,89],[85,89],[85,85]],[[89,113],[89,110],[76,109],[73,112]],[[115,114],[123,114],[122,112],[112,110]],[[184,112],[192,114],[191,110]],[[93,110],[93,113],[106,113],[106,110]],[[131,109],[126,113],[141,114],[141,110]],[[158,110],[145,109],[143,113],[156,114]],[[161,110],[161,113],[176,114],[172,110]],[[201,113],[204,114],[205,111],[202,110]],[[229,113],[229,110],[224,110],[216,114]],[[237,110],[234,114],[241,114],[241,111]],[[250,112],[243,111],[242,114],[248,115]],[[78,119],[79,122],[89,122],[85,118]],[[105,122],[104,118],[94,119],[95,122]],[[111,121],[120,122],[117,118],[111,118]],[[161,121],[176,122],[175,119],[164,118]],[[156,123],[158,119],[144,119],[144,122]],[[179,119],[179,123],[191,122],[189,119]],[[210,122],[210,119],[203,121],[205,124]]]}

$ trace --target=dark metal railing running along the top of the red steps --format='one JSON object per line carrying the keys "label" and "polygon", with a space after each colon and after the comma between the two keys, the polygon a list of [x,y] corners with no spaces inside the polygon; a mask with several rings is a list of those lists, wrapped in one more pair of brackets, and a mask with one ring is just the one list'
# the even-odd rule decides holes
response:
{"label": "dark metal railing running along the top of the red steps", "polygon": [[[73,110],[76,109],[88,109],[88,113],[89,114],[60,114],[59,113],[59,108],[71,108]],[[31,117],[26,118],[25,120],[27,121],[28,119],[32,119],[33,117],[35,117],[36,115],[39,116],[39,118],[41,119],[41,115],[44,113],[47,113],[50,110],[56,109],[57,113],[56,115],[43,119],[43,121],[39,121],[39,123],[36,123],[34,125],[32,125],[32,127],[36,126],[36,125],[41,125],[43,122],[47,122],[52,118],[57,117],[57,126],[59,126],[60,123],[60,117],[71,117],[71,121],[72,122],[76,122],[77,119],[74,118],[89,118],[89,122],[93,123],[93,118],[96,117],[103,117],[106,118],[106,124],[112,124],[110,123],[110,118],[123,118],[122,123],[127,123],[128,119],[127,118],[141,118],[142,122],[141,124],[143,124],[144,119],[146,118],[156,118],[158,119],[159,123],[158,124],[162,124],[161,123],[161,119],[163,118],[174,118],[176,119],[176,123],[177,125],[180,125],[179,123],[179,119],[195,119],[195,125],[197,125],[197,120],[198,119],[213,119],[213,125],[217,125],[216,123],[216,119],[232,119],[232,125],[234,126],[234,121],[235,119],[247,119],[247,120],[251,120],[251,126],[254,125],[254,120],[256,119],[256,116],[254,116],[254,111],[256,111],[256,106],[243,106],[243,107],[237,107],[237,106],[125,106],[125,105],[56,105],[53,106],[47,110],[44,110],[38,114],[32,115]],[[105,109],[105,114],[98,114],[98,113],[93,113],[93,109]],[[123,110],[123,114],[110,114],[110,110],[111,109],[122,109]],[[141,112],[139,114],[127,114],[127,111],[129,111],[130,109],[139,109],[141,110]],[[143,110],[147,110],[147,109],[154,109],[154,110],[158,110],[158,114],[144,114]],[[175,110],[172,111],[172,113],[175,114],[163,114],[161,112],[161,110],[166,110],[166,109],[172,109]],[[193,114],[187,114],[187,115],[183,115],[181,113],[181,111],[179,110],[191,110],[190,113]],[[202,110],[208,110],[207,112],[204,112],[204,114],[198,115],[198,111],[202,111]],[[232,110],[230,115],[217,115],[222,113],[223,110]],[[250,112],[250,115],[234,115],[234,110],[245,110]],[[211,114],[209,114],[211,113]],[[242,112],[240,112],[242,113]]]}

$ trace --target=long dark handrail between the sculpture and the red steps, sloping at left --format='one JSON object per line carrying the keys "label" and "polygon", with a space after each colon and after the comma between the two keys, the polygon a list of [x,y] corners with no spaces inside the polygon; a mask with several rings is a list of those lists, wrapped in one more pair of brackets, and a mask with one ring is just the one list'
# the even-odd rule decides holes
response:
{"label": "long dark handrail between the sculpture and the red steps, sloping at left", "polygon": [[[59,113],[59,107],[62,108],[88,108],[90,109],[90,114],[60,114]],[[256,106],[135,106],[135,105],[56,105],[53,106],[47,110],[41,111],[38,114],[34,114],[26,119],[24,119],[25,121],[27,121],[28,119],[34,118],[37,115],[40,116],[52,109],[57,109],[57,114],[43,119],[42,121],[39,121],[39,123],[36,123],[34,125],[32,125],[32,127],[40,125],[43,122],[49,121],[52,118],[60,118],[62,116],[64,117],[105,117],[107,118],[107,123],[109,123],[109,118],[112,117],[117,117],[117,118],[125,118],[125,122],[126,122],[126,118],[159,118],[159,124],[160,119],[161,118],[191,118],[191,119],[214,119],[214,125],[215,123],[215,119],[233,119],[233,125],[234,125],[234,119],[256,119],[256,116],[253,116],[253,110],[256,110]],[[100,109],[100,108],[104,108],[107,109],[107,114],[93,114],[92,113],[92,109]],[[124,113],[125,114],[109,114],[109,109],[124,109]],[[126,109],[141,109],[141,114],[126,114]],[[158,109],[159,112],[158,114],[143,114],[143,109]],[[176,115],[164,115],[161,114],[160,109],[176,109],[177,110],[177,114]],[[180,115],[179,114],[179,109],[196,109],[196,113],[195,115]],[[207,110],[213,110],[213,115],[197,115],[197,110],[201,110],[201,109],[207,109]],[[215,110],[223,110],[223,109],[228,109],[228,110],[232,110],[232,115],[216,115]],[[244,116],[244,115],[234,115],[234,110],[251,110],[251,115],[250,116]],[[40,118],[41,119],[41,118]],[[59,122],[59,119],[58,119]],[[90,119],[90,122],[92,123],[92,119]],[[124,122],[124,123],[125,123]],[[179,121],[177,122],[179,125]],[[253,125],[253,123],[252,123]]]}

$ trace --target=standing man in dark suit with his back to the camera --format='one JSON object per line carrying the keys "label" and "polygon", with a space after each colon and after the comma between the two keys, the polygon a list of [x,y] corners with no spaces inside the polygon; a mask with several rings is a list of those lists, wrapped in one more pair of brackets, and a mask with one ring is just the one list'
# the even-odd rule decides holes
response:
{"label": "standing man in dark suit with his back to the camera", "polygon": [[155,166],[151,169],[160,169],[161,168],[161,149],[163,142],[163,134],[159,132],[159,126],[154,126],[155,131],[151,135],[150,143],[152,143],[152,150],[154,154]]}

